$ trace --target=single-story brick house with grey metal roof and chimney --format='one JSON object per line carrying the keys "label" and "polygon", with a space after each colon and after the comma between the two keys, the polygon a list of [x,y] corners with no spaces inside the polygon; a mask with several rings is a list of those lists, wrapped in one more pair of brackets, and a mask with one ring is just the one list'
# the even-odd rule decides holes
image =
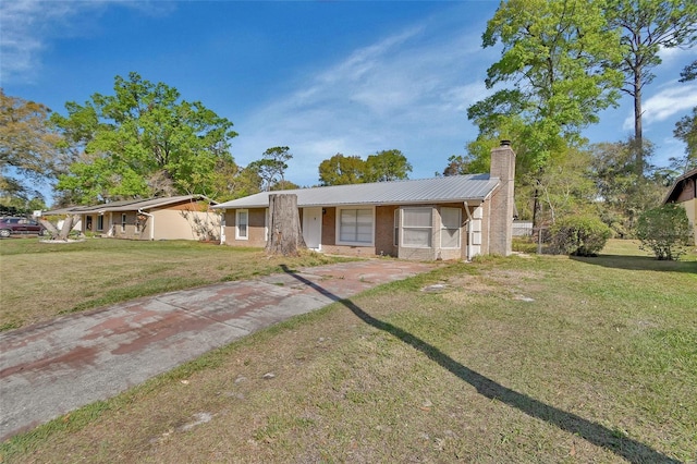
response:
{"label": "single-story brick house with grey metal roof and chimney", "polygon": [[511,254],[515,154],[502,142],[491,173],[264,192],[216,205],[221,243],[265,246],[269,195],[297,196],[303,237],[330,254],[469,259]]}

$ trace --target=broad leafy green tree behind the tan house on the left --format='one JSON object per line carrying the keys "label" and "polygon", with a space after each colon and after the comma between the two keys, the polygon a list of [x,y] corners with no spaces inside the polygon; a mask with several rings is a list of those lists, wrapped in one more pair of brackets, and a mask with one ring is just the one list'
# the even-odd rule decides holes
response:
{"label": "broad leafy green tree behind the tan house on the left", "polygon": [[75,157],[57,188],[76,203],[173,194],[220,196],[217,173],[234,171],[232,122],[203,103],[181,100],[137,73],[117,76],[114,95],[53,114]]}

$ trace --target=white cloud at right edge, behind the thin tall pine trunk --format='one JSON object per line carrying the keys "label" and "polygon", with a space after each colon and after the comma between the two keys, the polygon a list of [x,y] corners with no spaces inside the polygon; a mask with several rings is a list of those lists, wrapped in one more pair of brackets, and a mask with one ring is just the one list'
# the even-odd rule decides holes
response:
{"label": "white cloud at right edge, behind the thin tall pine trunk", "polygon": [[[697,106],[697,83],[678,83],[673,81],[652,97],[644,101],[641,121],[645,126],[684,113]],[[634,127],[634,115],[627,117],[623,130]]]}

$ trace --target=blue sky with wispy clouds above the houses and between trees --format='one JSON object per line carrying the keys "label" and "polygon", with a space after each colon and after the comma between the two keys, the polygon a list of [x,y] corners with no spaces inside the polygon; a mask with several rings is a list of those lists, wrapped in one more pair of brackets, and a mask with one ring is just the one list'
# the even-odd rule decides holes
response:
{"label": "blue sky with wispy clouds above the houses and between trees", "polygon": [[[7,95],[64,113],[115,75],[138,72],[176,87],[234,123],[239,164],[286,145],[286,179],[318,182],[342,152],[402,150],[412,179],[440,172],[477,136],[466,109],[488,95],[500,49],[481,49],[494,1],[29,1],[0,3],[0,85]],[[653,161],[682,155],[677,121],[697,106],[697,83],[680,84],[697,49],[667,50],[645,95]],[[601,113],[585,135],[632,133],[632,102]]]}

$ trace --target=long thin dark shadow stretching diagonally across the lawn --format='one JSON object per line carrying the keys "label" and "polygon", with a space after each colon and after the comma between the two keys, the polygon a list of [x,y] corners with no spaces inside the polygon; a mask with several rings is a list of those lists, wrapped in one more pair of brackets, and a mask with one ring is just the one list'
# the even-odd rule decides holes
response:
{"label": "long thin dark shadow stretching diagonally across the lawn", "polygon": [[622,437],[621,434],[610,430],[600,424],[596,424],[577,416],[576,414],[542,403],[534,398],[518,393],[508,387],[497,383],[490,378],[462,365],[418,337],[415,337],[389,322],[376,319],[354,304],[351,300],[343,300],[323,289],[321,285],[298,276],[285,266],[281,267],[288,274],[297,279],[305,285],[315,289],[321,295],[344,305],[364,322],[379,330],[386,331],[412,347],[420,351],[431,361],[476,388],[479,394],[482,394],[486,398],[498,400],[509,406],[522,411],[530,417],[545,420],[564,431],[582,437],[588,442],[597,447],[602,447],[616,455],[624,457],[631,463],[680,463],[680,461],[667,456],[665,454],[656,451],[639,441]]}

